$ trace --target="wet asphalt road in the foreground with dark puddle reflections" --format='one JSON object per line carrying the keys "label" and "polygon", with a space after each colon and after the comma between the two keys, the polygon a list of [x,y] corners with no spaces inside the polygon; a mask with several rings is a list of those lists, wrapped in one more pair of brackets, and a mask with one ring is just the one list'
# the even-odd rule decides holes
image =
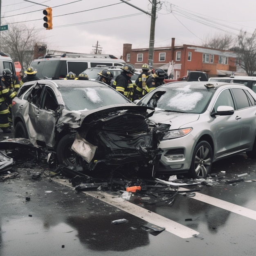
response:
{"label": "wet asphalt road in the foreground with dark puddle reflections", "polygon": [[[213,164],[211,186],[182,187],[200,191],[195,197],[178,193],[172,203],[160,202],[166,195],[135,193],[123,206],[119,191],[91,196],[76,192],[68,179],[32,179],[41,168],[48,170],[16,168],[17,177],[0,182],[1,256],[256,255],[256,160],[246,154]],[[133,205],[144,211],[136,213]],[[163,217],[171,221],[165,231],[145,230]],[[128,222],[111,223],[121,218]]]}

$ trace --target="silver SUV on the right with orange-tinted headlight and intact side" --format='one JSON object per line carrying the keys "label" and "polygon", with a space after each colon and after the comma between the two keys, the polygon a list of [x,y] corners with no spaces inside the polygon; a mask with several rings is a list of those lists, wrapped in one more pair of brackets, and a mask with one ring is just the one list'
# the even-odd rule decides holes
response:
{"label": "silver SUV on the right with orange-tinted headlight and intact side", "polygon": [[153,108],[153,125],[168,124],[159,170],[204,178],[212,163],[246,151],[256,158],[256,94],[244,85],[173,82],[137,102]]}

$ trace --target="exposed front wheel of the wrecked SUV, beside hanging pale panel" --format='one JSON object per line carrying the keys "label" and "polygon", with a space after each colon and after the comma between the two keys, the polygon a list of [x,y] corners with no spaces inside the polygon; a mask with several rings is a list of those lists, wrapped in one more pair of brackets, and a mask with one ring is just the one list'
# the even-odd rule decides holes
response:
{"label": "exposed front wheel of the wrecked SUV, beside hanging pale panel", "polygon": [[71,146],[74,142],[74,135],[65,135],[61,140],[59,141],[56,153],[57,153],[57,159],[58,163],[62,164],[66,167],[81,167],[81,164],[83,162],[82,157],[80,157],[78,154],[72,150]]}

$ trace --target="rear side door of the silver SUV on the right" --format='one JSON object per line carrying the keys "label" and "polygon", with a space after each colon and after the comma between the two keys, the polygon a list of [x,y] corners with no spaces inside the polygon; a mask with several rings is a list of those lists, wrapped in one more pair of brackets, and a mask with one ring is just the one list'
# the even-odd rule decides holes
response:
{"label": "rear side door of the silver SUV on the right", "polygon": [[247,149],[254,143],[256,127],[256,99],[248,90],[232,88],[236,108],[242,121],[240,148]]}

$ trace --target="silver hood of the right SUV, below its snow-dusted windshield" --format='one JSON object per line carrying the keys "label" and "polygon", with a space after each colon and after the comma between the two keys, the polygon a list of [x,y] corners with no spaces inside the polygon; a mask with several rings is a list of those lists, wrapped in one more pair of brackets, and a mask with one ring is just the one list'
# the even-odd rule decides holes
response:
{"label": "silver hood of the right SUV, below its snow-dusted windshield", "polygon": [[181,126],[198,120],[199,116],[199,114],[165,112],[156,110],[154,111],[153,115],[149,117],[149,119],[150,121],[153,121],[157,124],[170,124],[171,129],[178,129]]}

